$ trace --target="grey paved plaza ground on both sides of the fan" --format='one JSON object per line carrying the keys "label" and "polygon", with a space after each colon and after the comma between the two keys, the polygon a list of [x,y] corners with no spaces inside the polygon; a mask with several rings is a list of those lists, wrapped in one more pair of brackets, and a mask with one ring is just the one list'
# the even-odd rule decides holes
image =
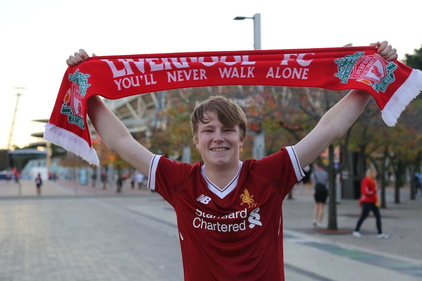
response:
{"label": "grey paved plaza ground on both sides of the fan", "polygon": [[[375,218],[351,232],[356,200],[337,204],[339,231],[311,224],[311,188],[298,184],[283,203],[286,281],[422,280],[422,196],[401,190]],[[327,213],[324,224],[327,225]],[[183,281],[176,216],[149,190],[46,181],[36,195],[32,180],[0,181],[0,281]]]}

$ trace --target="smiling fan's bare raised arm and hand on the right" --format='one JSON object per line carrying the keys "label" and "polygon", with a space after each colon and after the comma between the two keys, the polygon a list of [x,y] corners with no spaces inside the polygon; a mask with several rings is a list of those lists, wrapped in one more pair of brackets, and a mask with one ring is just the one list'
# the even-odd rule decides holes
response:
{"label": "smiling fan's bare raised arm and hand on the right", "polygon": [[[387,41],[372,43],[386,61],[398,58],[397,50]],[[295,145],[302,168],[312,163],[330,144],[341,138],[362,113],[371,95],[363,90],[352,90],[330,108],[313,130]]]}

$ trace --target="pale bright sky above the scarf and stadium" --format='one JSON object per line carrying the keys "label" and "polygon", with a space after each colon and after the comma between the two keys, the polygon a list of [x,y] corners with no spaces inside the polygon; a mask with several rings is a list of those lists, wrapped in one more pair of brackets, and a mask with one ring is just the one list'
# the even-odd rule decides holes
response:
{"label": "pale bright sky above the scarf and stadium", "polygon": [[402,60],[422,46],[416,2],[1,0],[0,149],[10,135],[11,146],[42,141],[30,136],[44,131],[33,120],[50,117],[66,59],[80,48],[101,56],[252,50],[254,21],[233,19],[259,13],[261,49],[386,40]]}

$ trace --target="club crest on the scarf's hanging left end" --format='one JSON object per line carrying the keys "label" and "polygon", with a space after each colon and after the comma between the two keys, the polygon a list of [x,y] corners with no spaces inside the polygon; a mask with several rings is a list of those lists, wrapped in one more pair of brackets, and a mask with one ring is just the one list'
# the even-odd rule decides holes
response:
{"label": "club crest on the scarf's hanging left end", "polygon": [[63,105],[60,110],[62,114],[68,115],[68,122],[85,129],[84,115],[82,110],[82,99],[87,94],[89,74],[84,74],[76,69],[74,73],[69,74],[70,88],[63,99]]}

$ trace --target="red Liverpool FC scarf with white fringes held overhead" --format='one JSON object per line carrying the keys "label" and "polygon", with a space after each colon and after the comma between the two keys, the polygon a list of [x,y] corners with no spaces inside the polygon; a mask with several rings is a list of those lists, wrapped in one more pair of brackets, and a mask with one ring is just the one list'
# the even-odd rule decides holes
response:
{"label": "red Liverpool FC scarf with white fringes held overhead", "polygon": [[168,89],[260,85],[363,89],[388,126],[422,90],[422,72],[386,62],[375,47],[92,57],[64,75],[44,138],[99,164],[87,126],[92,95],[119,99]]}

